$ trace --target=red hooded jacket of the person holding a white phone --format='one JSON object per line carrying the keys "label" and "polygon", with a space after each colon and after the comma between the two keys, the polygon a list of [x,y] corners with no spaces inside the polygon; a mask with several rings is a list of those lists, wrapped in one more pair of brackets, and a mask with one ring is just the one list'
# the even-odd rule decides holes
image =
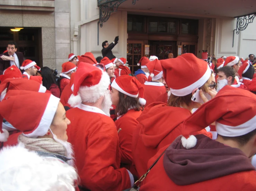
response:
{"label": "red hooded jacket of the person holding a white phone", "polygon": [[[147,172],[147,164],[159,149],[172,143],[179,135],[187,133],[182,122],[191,115],[184,108],[170,107],[155,102],[144,109],[133,132],[132,157],[139,177]],[[205,129],[195,134],[206,134]],[[188,134],[190,134],[188,132]]]}

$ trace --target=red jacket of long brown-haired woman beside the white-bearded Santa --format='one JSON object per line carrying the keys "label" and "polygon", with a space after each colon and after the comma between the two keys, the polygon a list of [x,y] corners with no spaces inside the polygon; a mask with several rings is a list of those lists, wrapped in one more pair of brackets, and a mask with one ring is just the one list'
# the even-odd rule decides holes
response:
{"label": "red jacket of long brown-haired woman beside the white-bearded Santa", "polygon": [[121,163],[128,170],[132,164],[132,134],[138,121],[136,120],[142,111],[131,109],[115,121],[116,129],[122,129],[119,133]]}

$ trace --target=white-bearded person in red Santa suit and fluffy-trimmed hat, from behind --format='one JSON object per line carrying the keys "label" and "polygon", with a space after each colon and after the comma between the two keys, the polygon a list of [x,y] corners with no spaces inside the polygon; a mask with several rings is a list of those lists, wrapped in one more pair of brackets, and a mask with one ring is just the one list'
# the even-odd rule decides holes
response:
{"label": "white-bearded person in red Santa suit and fluffy-trimmed hat, from behind", "polygon": [[68,101],[71,107],[77,107],[67,111],[71,121],[67,135],[73,145],[81,190],[120,191],[134,183],[131,172],[120,168],[119,138],[109,117],[109,84],[107,72],[80,62]]}

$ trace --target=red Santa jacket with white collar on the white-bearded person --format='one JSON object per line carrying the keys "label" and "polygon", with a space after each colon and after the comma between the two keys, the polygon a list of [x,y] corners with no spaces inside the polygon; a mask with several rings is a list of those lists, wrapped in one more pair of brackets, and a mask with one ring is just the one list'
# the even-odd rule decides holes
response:
{"label": "red Santa jacket with white collar on the white-bearded person", "polygon": [[[120,191],[131,187],[129,171],[120,168],[114,121],[102,110],[80,103],[67,111],[68,141],[73,145],[80,185],[91,191]],[[131,175],[132,177],[132,175]]]}

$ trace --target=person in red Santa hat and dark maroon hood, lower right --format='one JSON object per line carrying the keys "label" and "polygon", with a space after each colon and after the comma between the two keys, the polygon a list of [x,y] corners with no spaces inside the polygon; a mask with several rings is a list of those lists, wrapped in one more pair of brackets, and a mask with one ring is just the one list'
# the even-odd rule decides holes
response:
{"label": "person in red Santa hat and dark maroon hood, lower right", "polygon": [[[255,104],[253,93],[224,87],[182,123],[189,134],[177,137],[149,160],[148,167],[160,157],[140,191],[256,190],[256,172],[249,160],[256,153]],[[213,122],[216,140],[191,135]]]}

